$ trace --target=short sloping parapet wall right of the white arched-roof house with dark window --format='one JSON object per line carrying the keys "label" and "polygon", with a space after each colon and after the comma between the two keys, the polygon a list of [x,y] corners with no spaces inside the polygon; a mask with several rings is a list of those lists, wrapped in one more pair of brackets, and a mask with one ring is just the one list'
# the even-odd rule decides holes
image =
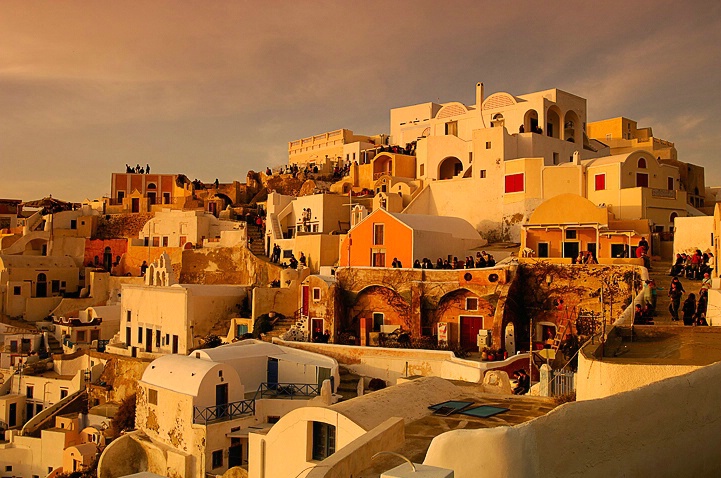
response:
{"label": "short sloping parapet wall right of the white arched-roof house with dark window", "polygon": [[402,418],[389,418],[368,433],[356,438],[323,460],[306,478],[348,478],[368,468],[373,455],[379,451],[399,448],[405,441]]}

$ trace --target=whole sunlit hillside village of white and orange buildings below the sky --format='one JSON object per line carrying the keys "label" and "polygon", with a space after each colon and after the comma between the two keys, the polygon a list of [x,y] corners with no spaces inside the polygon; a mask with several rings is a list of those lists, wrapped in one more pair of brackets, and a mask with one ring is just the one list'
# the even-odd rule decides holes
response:
{"label": "whole sunlit hillside village of white and orange buildings below the sky", "polygon": [[0,476],[721,474],[721,188],[587,110],[477,83],[0,199]]}

